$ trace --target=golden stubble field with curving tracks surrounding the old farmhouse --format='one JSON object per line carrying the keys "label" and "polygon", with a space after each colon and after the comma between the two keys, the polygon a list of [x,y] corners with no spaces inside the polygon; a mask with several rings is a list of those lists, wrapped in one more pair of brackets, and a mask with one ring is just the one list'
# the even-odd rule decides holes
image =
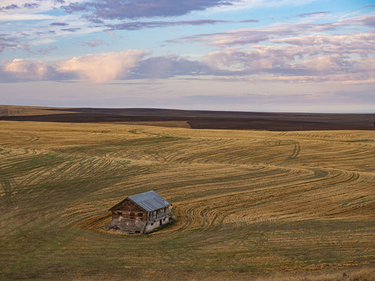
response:
{"label": "golden stubble field with curving tracks surrounding the old farmhouse", "polygon": [[[374,280],[374,131],[0,122],[1,280]],[[100,230],[155,190],[177,222]]]}

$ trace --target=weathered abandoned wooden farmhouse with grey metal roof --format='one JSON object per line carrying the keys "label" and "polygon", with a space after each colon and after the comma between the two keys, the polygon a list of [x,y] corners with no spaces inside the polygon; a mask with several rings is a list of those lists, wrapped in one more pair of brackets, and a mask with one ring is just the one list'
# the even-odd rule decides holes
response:
{"label": "weathered abandoned wooden farmhouse with grey metal roof", "polygon": [[109,209],[110,228],[130,234],[149,233],[170,222],[170,206],[169,201],[153,190],[129,196]]}

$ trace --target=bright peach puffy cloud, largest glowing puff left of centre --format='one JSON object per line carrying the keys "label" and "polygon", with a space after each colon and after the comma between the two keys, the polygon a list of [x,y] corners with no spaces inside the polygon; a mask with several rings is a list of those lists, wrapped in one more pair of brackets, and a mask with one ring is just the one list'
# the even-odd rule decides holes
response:
{"label": "bright peach puffy cloud, largest glowing puff left of centre", "polygon": [[105,83],[124,77],[148,53],[148,51],[125,50],[99,55],[86,55],[61,61],[55,65],[58,72],[75,74],[80,79],[93,83]]}

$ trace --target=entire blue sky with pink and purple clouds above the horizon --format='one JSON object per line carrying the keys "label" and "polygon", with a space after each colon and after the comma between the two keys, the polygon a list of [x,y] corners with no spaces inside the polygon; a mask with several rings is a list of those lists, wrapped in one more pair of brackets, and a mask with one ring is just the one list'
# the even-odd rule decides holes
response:
{"label": "entire blue sky with pink and purple clouds above the horizon", "polygon": [[0,0],[0,104],[375,112],[375,1]]}

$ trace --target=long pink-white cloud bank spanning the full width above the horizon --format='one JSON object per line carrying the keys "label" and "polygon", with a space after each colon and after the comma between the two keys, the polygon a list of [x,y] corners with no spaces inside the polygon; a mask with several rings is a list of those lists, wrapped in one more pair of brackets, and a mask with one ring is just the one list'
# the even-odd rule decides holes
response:
{"label": "long pink-white cloud bank spanning the full width above the horizon", "polygon": [[[364,40],[364,38],[366,40]],[[96,44],[95,40],[92,41]],[[374,33],[350,36],[307,35],[274,39],[272,46],[220,48],[201,61],[179,55],[146,57],[149,51],[124,50],[84,55],[49,64],[24,59],[3,62],[3,79],[80,79],[106,83],[114,79],[166,79],[191,76],[306,83],[340,81],[371,83],[375,77]],[[91,42],[86,42],[91,44]],[[100,42],[99,42],[100,43]],[[219,78],[218,78],[219,79]],[[224,81],[224,80],[222,80]]]}

